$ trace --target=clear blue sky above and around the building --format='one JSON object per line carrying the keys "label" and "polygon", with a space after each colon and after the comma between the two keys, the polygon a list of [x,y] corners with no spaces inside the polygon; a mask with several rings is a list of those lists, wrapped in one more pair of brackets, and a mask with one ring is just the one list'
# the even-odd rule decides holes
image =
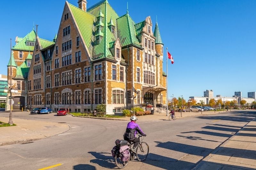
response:
{"label": "clear blue sky above and around the building", "polygon": [[[12,2],[2,2],[0,74],[5,75],[10,38],[14,45],[15,37],[24,37],[34,22],[39,25],[39,37],[52,40],[65,4],[64,0]],[[77,0],[68,2],[77,6]],[[87,7],[96,2],[87,0]],[[119,16],[126,13],[127,1],[108,2]],[[174,64],[168,60],[168,96],[183,95],[187,100],[212,89],[214,96],[242,91],[247,97],[247,92],[256,91],[255,0],[128,0],[128,8],[135,23],[151,16],[155,26],[157,16],[164,49],[168,47],[174,58]]]}

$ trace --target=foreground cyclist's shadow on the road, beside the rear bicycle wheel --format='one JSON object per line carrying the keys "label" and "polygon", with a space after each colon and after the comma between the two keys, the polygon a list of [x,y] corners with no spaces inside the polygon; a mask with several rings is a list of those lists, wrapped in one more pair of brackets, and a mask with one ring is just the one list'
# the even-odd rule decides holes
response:
{"label": "foreground cyclist's shadow on the road, beside the rear bicycle wheel", "polygon": [[[111,153],[107,152],[88,152],[91,153],[96,159],[90,160],[91,163],[98,164],[104,168],[113,169],[116,167],[115,159],[112,157]],[[109,155],[109,156],[106,156]]]}

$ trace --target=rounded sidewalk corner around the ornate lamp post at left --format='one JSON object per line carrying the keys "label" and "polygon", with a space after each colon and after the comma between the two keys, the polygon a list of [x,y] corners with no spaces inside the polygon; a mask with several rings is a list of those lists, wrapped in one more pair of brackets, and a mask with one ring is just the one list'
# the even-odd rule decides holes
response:
{"label": "rounded sidewalk corner around the ornate lamp post at left", "polygon": [[[0,117],[0,120],[7,123],[9,122],[9,117]],[[12,120],[16,126],[0,128],[0,146],[27,143],[54,136],[70,129],[67,124],[18,118],[12,118]]]}

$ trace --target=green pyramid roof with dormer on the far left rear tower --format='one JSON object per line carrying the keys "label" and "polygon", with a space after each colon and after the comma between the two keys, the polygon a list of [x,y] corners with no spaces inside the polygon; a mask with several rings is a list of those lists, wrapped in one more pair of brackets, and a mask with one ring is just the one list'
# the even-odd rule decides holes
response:
{"label": "green pyramid roof with dormer on the far left rear tower", "polygon": [[23,39],[21,39],[12,49],[13,50],[34,51],[34,46],[27,46],[27,43],[26,43],[27,40],[35,42],[36,32],[34,29],[30,33],[28,33]]}

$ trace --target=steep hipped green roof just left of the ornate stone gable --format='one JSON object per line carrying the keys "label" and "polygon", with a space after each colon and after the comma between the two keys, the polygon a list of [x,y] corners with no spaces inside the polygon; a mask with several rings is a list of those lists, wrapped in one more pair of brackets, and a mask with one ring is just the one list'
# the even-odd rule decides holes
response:
{"label": "steep hipped green roof just left of the ornate stone gable", "polygon": [[120,39],[121,45],[126,46],[136,44],[140,46],[140,42],[136,37],[135,23],[129,14],[117,18],[117,36]]}

